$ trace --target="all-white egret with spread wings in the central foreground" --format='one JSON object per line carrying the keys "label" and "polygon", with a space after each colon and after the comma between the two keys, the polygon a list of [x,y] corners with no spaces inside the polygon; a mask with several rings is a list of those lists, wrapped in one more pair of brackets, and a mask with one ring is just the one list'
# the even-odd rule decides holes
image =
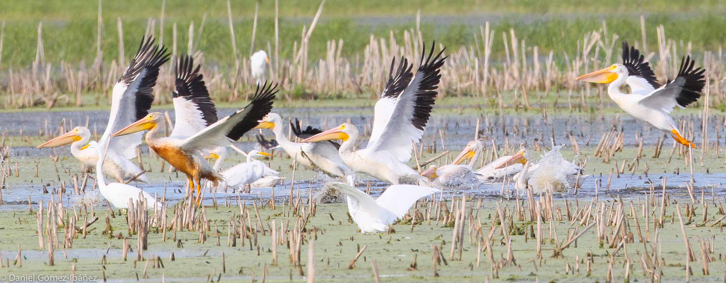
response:
{"label": "all-white egret with spread wings in the central foreground", "polygon": [[370,195],[354,187],[351,176],[348,176],[348,184],[330,182],[327,185],[348,196],[348,212],[362,233],[388,232],[388,225],[406,215],[416,200],[441,193],[441,190],[433,187],[391,185],[373,200]]}

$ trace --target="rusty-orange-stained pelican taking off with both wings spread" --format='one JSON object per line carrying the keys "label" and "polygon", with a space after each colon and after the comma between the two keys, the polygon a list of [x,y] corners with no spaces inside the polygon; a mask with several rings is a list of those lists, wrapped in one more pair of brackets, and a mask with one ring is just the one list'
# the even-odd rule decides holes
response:
{"label": "rusty-orange-stained pelican taking off with both wings spread", "polygon": [[[275,90],[277,85],[258,86],[250,104],[197,131],[192,125],[204,124],[200,120],[208,117],[205,114],[208,109],[205,110],[204,107],[205,103],[209,102],[209,93],[204,85],[203,76],[199,73],[200,67],[193,68],[192,57],[183,56],[179,61],[176,70],[176,93],[173,95],[176,126],[171,132],[171,136],[163,136],[166,121],[163,114],[158,112],[148,114],[129,124],[115,132],[113,136],[149,130],[146,134],[146,143],[158,156],[187,175],[189,193],[194,192],[196,184],[196,203],[198,204],[201,202],[202,179],[213,182],[215,186],[219,185],[219,181],[224,180],[224,177],[215,172],[209,162],[204,160],[200,151],[227,147],[252,130],[257,125],[257,121],[272,110],[272,100],[277,93]],[[200,99],[197,100],[197,98]],[[213,110],[213,104],[211,109]],[[214,114],[214,118],[216,118],[216,114]]]}

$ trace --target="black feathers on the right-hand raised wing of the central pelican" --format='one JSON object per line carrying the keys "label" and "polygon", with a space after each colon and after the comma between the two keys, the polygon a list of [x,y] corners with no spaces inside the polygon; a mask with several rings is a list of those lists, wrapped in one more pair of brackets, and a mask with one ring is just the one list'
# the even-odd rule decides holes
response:
{"label": "black feathers on the right-hand raised wing of the central pelican", "polygon": [[431,117],[431,110],[433,104],[436,103],[436,89],[439,88],[439,82],[441,81],[441,67],[444,66],[446,58],[449,56],[441,57],[444,54],[446,48],[441,48],[436,56],[433,56],[433,50],[436,48],[436,41],[431,43],[431,51],[428,52],[426,60],[424,62],[424,54],[426,46],[423,46],[421,52],[420,66],[416,73],[414,80],[417,80],[417,89],[414,95],[416,96],[416,102],[414,106],[414,114],[411,119],[411,123],[418,130],[424,130],[426,123],[428,123],[429,117]]}

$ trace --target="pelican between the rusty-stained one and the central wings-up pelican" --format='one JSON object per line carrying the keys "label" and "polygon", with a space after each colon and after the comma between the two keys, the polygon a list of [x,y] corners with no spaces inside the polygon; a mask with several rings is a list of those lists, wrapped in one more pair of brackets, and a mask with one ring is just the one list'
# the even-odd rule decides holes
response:
{"label": "pelican between the rusty-stained one and the central wings-up pelican", "polygon": [[[267,114],[266,117],[259,121],[255,129],[269,129],[274,132],[277,143],[287,155],[292,156],[295,161],[309,169],[322,172],[330,177],[345,177],[350,171],[348,166],[340,159],[338,148],[340,145],[333,141],[322,141],[318,143],[295,143],[290,141],[282,133],[282,117],[276,113]],[[321,130],[308,126],[306,130],[300,129],[300,124],[295,120],[295,124],[290,123],[295,135],[299,138],[310,138]]]}

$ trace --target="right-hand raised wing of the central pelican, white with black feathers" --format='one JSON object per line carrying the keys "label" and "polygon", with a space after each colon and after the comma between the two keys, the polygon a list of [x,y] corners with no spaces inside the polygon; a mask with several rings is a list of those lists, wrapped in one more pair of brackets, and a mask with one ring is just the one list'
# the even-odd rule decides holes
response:
{"label": "right-hand raised wing of the central pelican, white with black feathers", "polygon": [[[441,79],[439,69],[444,65],[444,59],[446,59],[446,57],[441,58],[443,52],[444,49],[436,56],[433,56],[433,48],[431,48],[426,62],[423,62],[422,54],[420,67],[416,75],[411,83],[395,98],[395,105],[388,123],[383,125],[373,121],[373,132],[376,131],[375,127],[383,126],[383,130],[380,131],[378,137],[374,137],[374,142],[369,143],[366,149],[377,152],[386,151],[387,154],[401,162],[407,162],[411,159],[412,143],[421,139],[426,122],[431,116],[432,105],[437,94],[436,88],[438,88]],[[387,113],[391,111],[390,104],[390,101],[386,102],[386,106],[382,104],[379,107],[376,104],[375,111],[378,112],[378,109],[383,109]],[[376,117],[378,116],[385,117],[388,115],[376,114]]]}

